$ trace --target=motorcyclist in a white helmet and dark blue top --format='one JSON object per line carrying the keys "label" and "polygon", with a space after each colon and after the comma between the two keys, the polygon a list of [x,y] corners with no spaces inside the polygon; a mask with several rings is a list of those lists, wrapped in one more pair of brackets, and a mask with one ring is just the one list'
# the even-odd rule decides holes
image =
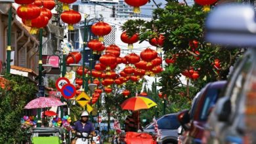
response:
{"label": "motorcyclist in a white helmet and dark blue top", "polygon": [[[89,113],[87,111],[83,111],[81,113],[80,120],[77,120],[77,122],[74,123],[75,126],[72,126],[72,133],[75,134],[75,132],[86,132],[87,134],[91,134],[95,136],[95,128],[93,126],[93,123],[89,121]],[[72,140],[71,144],[75,144],[77,137]]]}

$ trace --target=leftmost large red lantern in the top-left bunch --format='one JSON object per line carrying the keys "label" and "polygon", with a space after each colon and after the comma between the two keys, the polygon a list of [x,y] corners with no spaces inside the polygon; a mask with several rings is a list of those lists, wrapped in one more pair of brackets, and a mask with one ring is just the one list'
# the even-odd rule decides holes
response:
{"label": "leftmost large red lantern in the top-left bunch", "polygon": [[22,11],[22,6],[16,10],[17,15],[24,20],[26,26],[32,26],[32,19],[37,18],[41,14],[41,9],[36,5],[28,5],[26,10]]}

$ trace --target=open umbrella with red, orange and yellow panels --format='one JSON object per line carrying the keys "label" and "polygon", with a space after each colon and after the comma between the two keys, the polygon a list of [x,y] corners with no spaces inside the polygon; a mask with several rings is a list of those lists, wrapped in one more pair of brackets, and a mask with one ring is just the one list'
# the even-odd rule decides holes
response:
{"label": "open umbrella with red, orange and yellow panels", "polygon": [[149,109],[150,107],[154,107],[156,105],[157,104],[152,101],[152,99],[136,96],[123,101],[123,103],[121,103],[121,108],[131,111],[137,111],[139,109]]}

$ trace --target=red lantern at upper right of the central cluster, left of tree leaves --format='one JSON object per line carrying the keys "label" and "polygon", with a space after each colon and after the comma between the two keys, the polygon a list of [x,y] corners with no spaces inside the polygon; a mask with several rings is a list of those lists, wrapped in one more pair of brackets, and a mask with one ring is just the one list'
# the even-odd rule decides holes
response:
{"label": "red lantern at upper right of the central cluster, left of tree leaves", "polygon": [[152,50],[150,48],[146,48],[140,52],[140,58],[145,62],[148,62],[147,65],[152,65],[151,61],[158,57],[158,52],[156,50]]}

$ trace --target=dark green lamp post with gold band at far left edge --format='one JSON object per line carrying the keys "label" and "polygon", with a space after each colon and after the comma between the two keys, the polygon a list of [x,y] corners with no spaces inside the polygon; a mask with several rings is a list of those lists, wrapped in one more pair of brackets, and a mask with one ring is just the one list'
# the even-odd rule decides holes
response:
{"label": "dark green lamp post with gold band at far left edge", "polygon": [[12,27],[12,3],[14,0],[3,0],[0,1],[1,12],[6,13],[8,10],[8,33],[7,33],[7,73],[11,70],[11,27]]}

